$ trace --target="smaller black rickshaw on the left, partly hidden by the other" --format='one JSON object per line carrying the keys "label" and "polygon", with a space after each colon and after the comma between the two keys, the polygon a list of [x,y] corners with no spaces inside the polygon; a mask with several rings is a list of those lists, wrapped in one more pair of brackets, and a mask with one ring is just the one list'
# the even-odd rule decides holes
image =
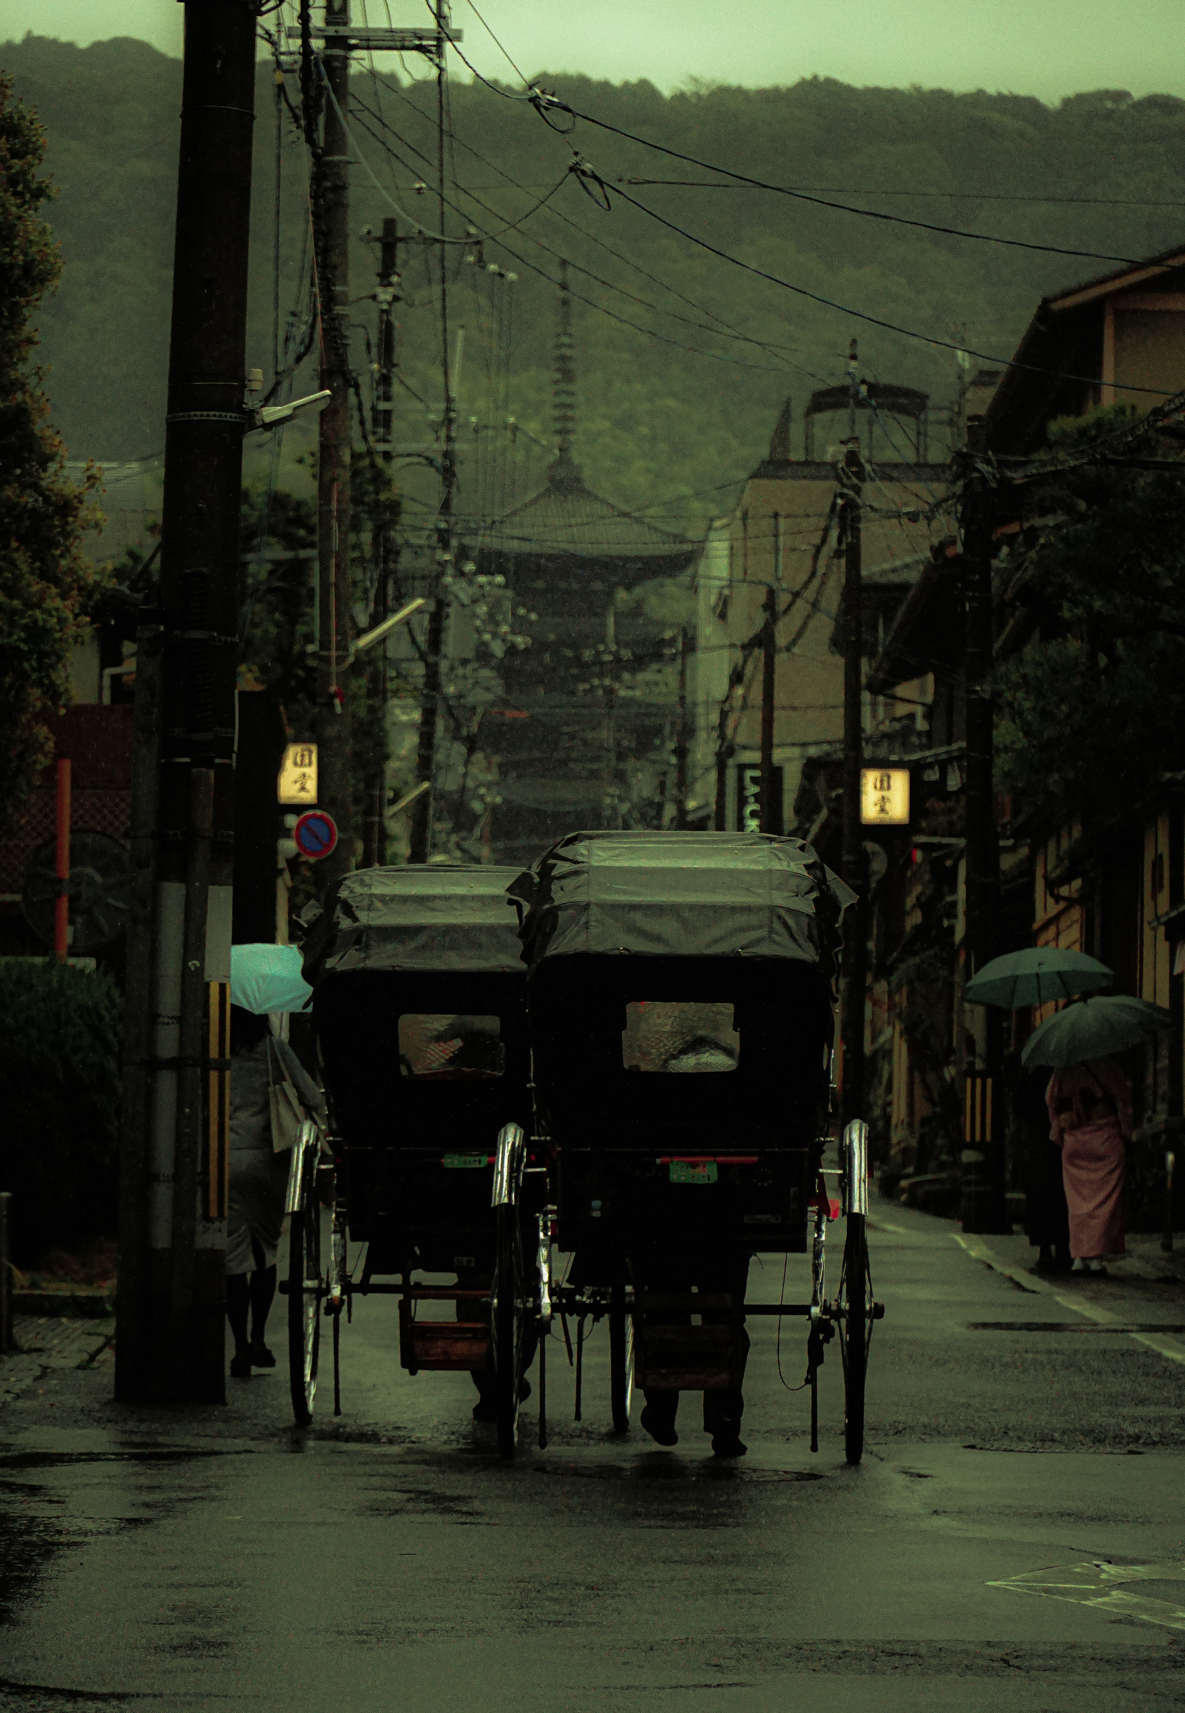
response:
{"label": "smaller black rickshaw on the left, partly hidden by the other", "polygon": [[[288,1189],[298,1425],[312,1420],[322,1321],[332,1321],[341,1413],[342,1314],[349,1319],[354,1297],[394,1293],[402,1367],[478,1376],[483,1401],[491,1396],[497,1408],[498,1442],[514,1451],[538,1319],[522,1288],[524,1179],[546,1173],[527,1143],[514,875],[437,863],[363,868],[341,880],[307,934],[332,1134],[322,1144],[305,1127]],[[360,1276],[356,1245],[365,1245]],[[423,1273],[457,1274],[457,1285],[413,1283]],[[456,1319],[423,1319],[430,1304],[452,1307]]]}

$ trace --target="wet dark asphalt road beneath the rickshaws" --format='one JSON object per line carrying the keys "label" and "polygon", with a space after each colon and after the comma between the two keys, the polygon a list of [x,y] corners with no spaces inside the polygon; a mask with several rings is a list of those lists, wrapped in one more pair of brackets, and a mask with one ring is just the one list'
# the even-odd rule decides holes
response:
{"label": "wet dark asphalt road beneath the rickshaws", "polygon": [[[947,1221],[873,1220],[887,1317],[860,1470],[837,1358],[812,1456],[772,1321],[750,1322],[740,1465],[711,1458],[692,1398],[675,1451],[613,1439],[598,1328],[586,1420],[555,1340],[551,1444],[527,1405],[505,1466],[467,1376],[401,1372],[390,1298],[356,1302],[344,1413],[312,1432],[283,1369],[188,1412],[116,1406],[110,1364],[48,1376],[0,1412],[0,1708],[1185,1704],[1185,1364],[1024,1295]],[[805,1273],[791,1257],[788,1297]],[[781,1262],[752,1280],[776,1300]],[[1058,1293],[1185,1322],[1180,1286]]]}

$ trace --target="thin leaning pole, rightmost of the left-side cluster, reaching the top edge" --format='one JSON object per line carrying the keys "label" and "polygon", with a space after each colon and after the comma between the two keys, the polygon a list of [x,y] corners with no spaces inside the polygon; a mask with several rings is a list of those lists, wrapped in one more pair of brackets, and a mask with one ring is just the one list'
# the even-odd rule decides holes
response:
{"label": "thin leaning pole, rightmost of the left-side cluster, reaching the top edge", "polygon": [[[433,0],[437,21],[437,209],[440,219],[440,377],[444,385],[444,449],[440,469],[440,510],[437,512],[437,550],[433,574],[433,601],[425,639],[423,702],[420,711],[420,743],[416,749],[416,785],[428,785],[418,798],[411,821],[409,862],[428,862],[432,855],[433,791],[437,764],[437,731],[440,726],[440,656],[444,653],[445,594],[444,577],[452,565],[452,497],[457,485],[457,401],[452,396],[449,368],[449,269],[445,266],[445,50],[450,36],[449,0]],[[459,33],[456,34],[459,38]]]}

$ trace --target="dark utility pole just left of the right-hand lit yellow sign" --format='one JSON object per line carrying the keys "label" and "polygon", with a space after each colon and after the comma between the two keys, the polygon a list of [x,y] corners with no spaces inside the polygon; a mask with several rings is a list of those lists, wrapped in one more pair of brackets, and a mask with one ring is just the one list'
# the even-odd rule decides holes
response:
{"label": "dark utility pole just left of the right-hand lit yellow sign", "polygon": [[[855,416],[855,408],[853,408]],[[863,579],[861,579],[861,492],[865,466],[860,442],[848,440],[841,471],[844,533],[844,821],[843,877],[856,892],[844,925],[841,1122],[863,1119],[865,1096],[865,983],[868,963],[868,903],[865,899],[865,845],[860,821],[860,774],[863,769]]]}

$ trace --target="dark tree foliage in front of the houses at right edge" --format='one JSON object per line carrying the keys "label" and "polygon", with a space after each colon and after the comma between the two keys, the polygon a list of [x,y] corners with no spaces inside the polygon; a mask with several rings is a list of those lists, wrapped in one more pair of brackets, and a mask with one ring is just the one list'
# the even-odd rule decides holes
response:
{"label": "dark tree foliage in front of the houses at right edge", "polygon": [[[1055,423],[1051,444],[1089,454],[1130,406]],[[1130,457],[1166,456],[1140,435]],[[1185,766],[1185,461],[1176,471],[1086,464],[1038,485],[1053,516],[1017,572],[1038,639],[997,671],[1000,783],[1051,826],[1106,834]]]}

